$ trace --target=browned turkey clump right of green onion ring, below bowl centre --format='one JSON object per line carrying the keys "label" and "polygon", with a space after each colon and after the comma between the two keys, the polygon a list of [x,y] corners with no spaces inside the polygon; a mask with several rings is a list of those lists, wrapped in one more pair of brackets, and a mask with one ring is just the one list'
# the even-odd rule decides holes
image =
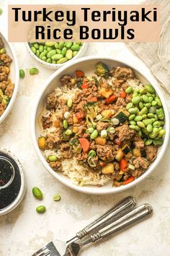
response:
{"label": "browned turkey clump right of green onion ring, below bowl centre", "polygon": [[110,147],[109,145],[97,145],[97,155],[100,159],[102,159],[102,161],[112,161],[114,158],[112,146]]}

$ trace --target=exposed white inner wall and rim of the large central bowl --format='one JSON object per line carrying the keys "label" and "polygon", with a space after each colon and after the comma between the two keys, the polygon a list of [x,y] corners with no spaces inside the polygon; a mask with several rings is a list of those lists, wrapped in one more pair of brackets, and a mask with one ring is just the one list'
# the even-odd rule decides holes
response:
{"label": "exposed white inner wall and rim of the large central bowl", "polygon": [[120,187],[112,187],[111,182],[104,185],[104,187],[97,187],[97,186],[91,186],[91,185],[79,187],[77,185],[74,185],[71,182],[71,180],[68,179],[66,176],[63,176],[63,174],[58,174],[55,171],[53,171],[53,169],[51,169],[48,166],[48,163],[45,161],[45,158],[42,155],[42,152],[39,150],[39,148],[37,146],[37,137],[40,136],[40,132],[41,132],[41,128],[40,128],[40,125],[38,124],[37,120],[40,119],[40,113],[42,111],[42,108],[45,106],[45,98],[48,95],[48,93],[50,93],[56,87],[60,86],[60,84],[61,84],[60,78],[63,76],[63,74],[73,74],[74,75],[75,74],[74,72],[76,69],[83,70],[86,75],[91,74],[92,72],[94,72],[95,64],[97,63],[97,61],[103,61],[105,64],[107,64],[107,66],[109,68],[117,67],[117,66],[128,67],[128,65],[126,65],[120,61],[115,61],[114,59],[97,58],[94,56],[94,57],[81,58],[77,61],[74,61],[71,64],[71,66],[67,65],[66,67],[63,67],[60,70],[58,70],[57,72],[55,72],[47,81],[45,89],[43,90],[42,95],[40,95],[40,97],[37,101],[38,103],[37,103],[37,107],[36,107],[35,115],[34,115],[35,123],[33,124],[34,128],[33,128],[32,132],[33,132],[33,140],[34,140],[34,144],[35,144],[35,149],[37,150],[37,154],[40,157],[40,160],[44,164],[45,168],[47,168],[48,171],[50,171],[50,173],[53,174],[53,176],[55,176],[55,178],[57,178],[63,184],[66,184],[68,187],[76,189],[79,192],[85,192],[85,193],[89,193],[89,194],[109,194],[109,193],[120,192],[122,190],[128,189],[128,188],[132,187],[133,185],[137,184],[138,182],[141,182],[143,179],[145,179],[145,177],[148,176],[148,174],[150,174],[151,171],[153,171],[153,168],[156,167],[156,165],[158,164],[158,161],[161,160],[161,157],[164,154],[164,150],[166,150],[166,146],[167,146],[167,142],[168,142],[168,138],[169,138],[169,136],[168,136],[168,134],[169,134],[169,115],[167,112],[166,104],[164,103],[164,98],[162,97],[161,92],[159,91],[157,85],[154,85],[151,80],[148,80],[148,78],[146,78],[143,74],[140,74],[140,72],[138,72],[136,69],[134,69],[133,67],[130,67],[135,72],[135,76],[138,77],[138,79],[143,84],[151,83],[154,86],[154,88],[156,89],[156,92],[158,93],[158,95],[161,98],[161,101],[164,106],[164,111],[166,114],[166,136],[164,138],[164,145],[162,145],[161,148],[159,148],[158,156],[157,156],[156,160],[151,164],[151,166],[148,168],[146,173],[143,174],[142,176],[140,176],[140,178],[136,179],[134,182],[132,182],[128,185],[120,186]]}

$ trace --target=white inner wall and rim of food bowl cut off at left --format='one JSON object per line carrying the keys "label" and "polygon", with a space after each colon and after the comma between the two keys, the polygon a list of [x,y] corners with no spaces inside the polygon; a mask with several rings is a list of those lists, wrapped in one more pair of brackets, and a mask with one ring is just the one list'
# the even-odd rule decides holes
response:
{"label": "white inner wall and rim of food bowl cut off at left", "polygon": [[6,39],[4,38],[4,36],[0,33],[0,37],[2,38],[3,42],[4,42],[4,48],[6,48],[6,54],[10,56],[10,58],[12,59],[12,63],[10,64],[10,73],[9,73],[9,79],[12,80],[12,82],[14,83],[14,92],[12,95],[11,100],[9,101],[9,104],[6,108],[6,110],[4,111],[4,113],[0,116],[0,123],[1,121],[4,120],[4,118],[7,116],[7,114],[9,114],[10,109],[12,108],[12,105],[14,103],[14,99],[17,96],[17,90],[18,90],[18,83],[19,83],[19,69],[18,69],[18,64],[17,64],[17,57],[14,53],[14,49],[12,48],[12,46],[6,41]]}

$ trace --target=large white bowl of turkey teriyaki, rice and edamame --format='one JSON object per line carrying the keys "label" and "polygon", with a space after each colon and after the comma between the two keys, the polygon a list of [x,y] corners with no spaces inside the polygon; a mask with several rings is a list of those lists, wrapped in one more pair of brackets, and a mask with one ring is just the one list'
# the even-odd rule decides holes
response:
{"label": "large white bowl of turkey teriyaki, rice and edamame", "polygon": [[148,70],[86,56],[49,77],[36,101],[32,137],[59,182],[112,194],[142,182],[161,161],[169,114]]}

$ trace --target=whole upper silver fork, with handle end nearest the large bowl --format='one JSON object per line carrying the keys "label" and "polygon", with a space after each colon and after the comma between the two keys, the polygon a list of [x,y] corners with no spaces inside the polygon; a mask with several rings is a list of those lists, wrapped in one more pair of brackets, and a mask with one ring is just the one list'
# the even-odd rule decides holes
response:
{"label": "whole upper silver fork, with handle end nearest the large bowl", "polygon": [[[84,229],[76,233],[76,236],[74,236],[72,239],[68,240],[67,242],[62,241],[55,241],[55,244],[57,244],[57,247],[60,248],[60,253],[57,251],[55,252],[55,246],[53,242],[50,242],[45,247],[42,247],[42,249],[35,252],[32,256],[46,256],[46,255],[63,255],[66,251],[66,247],[71,242],[76,242],[78,239],[82,239],[84,236],[90,234],[91,232],[101,229],[105,223],[111,223],[112,221],[116,221],[121,216],[125,215],[125,213],[130,212],[133,208],[135,208],[136,201],[133,197],[126,197],[124,200],[119,202],[115,207],[111,208],[107,211],[107,213],[104,213],[102,216],[97,218],[96,221],[93,221],[88,226],[86,226]],[[50,252],[49,252],[50,250]],[[42,254],[42,252],[44,254]],[[40,254],[41,253],[41,254]],[[50,254],[51,253],[51,254]]]}

